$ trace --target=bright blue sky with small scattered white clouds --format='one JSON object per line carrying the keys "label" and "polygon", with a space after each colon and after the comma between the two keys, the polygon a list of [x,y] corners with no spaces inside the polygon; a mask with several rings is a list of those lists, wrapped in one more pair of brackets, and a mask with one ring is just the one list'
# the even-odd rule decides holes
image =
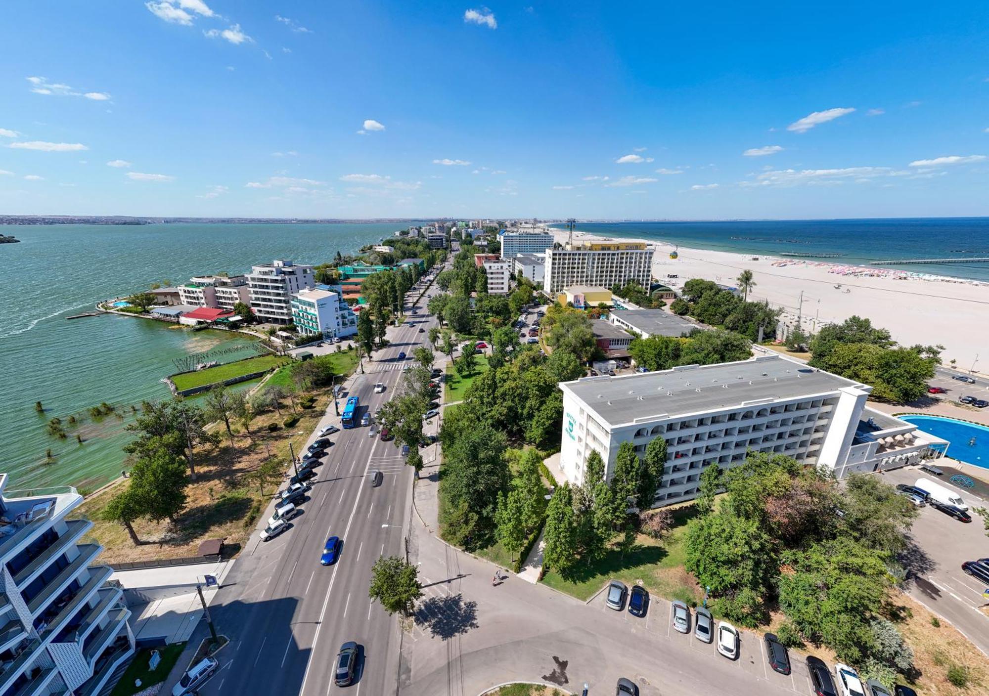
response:
{"label": "bright blue sky with small scattered white clouds", "polygon": [[0,213],[989,215],[975,2],[107,0],[0,26]]}

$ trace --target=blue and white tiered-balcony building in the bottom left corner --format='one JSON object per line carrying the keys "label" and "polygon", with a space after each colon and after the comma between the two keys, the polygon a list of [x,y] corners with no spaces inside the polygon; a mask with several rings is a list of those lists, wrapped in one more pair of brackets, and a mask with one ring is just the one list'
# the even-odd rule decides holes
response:
{"label": "blue and white tiered-balcony building in the bottom left corner", "polygon": [[0,694],[95,696],[120,678],[135,652],[123,590],[96,564],[73,518],[71,486],[5,490],[0,474]]}

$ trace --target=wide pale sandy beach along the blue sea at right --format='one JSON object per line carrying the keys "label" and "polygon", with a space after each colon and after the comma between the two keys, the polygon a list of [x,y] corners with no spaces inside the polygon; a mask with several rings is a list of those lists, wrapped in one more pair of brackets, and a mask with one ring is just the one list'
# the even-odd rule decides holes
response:
{"label": "wide pale sandy beach along the blue sea at right", "polygon": [[[558,241],[566,243],[567,230],[550,231]],[[574,232],[575,241],[615,238],[618,237]],[[801,315],[805,330],[813,331],[816,326],[841,322],[857,314],[889,329],[901,344],[943,345],[945,365],[953,358],[959,369],[968,370],[976,361],[976,372],[989,370],[989,348],[983,349],[983,344],[989,345],[989,284],[827,260],[804,261],[683,246],[676,248],[678,257],[671,259],[674,245],[649,239],[635,241],[643,241],[656,250],[653,276],[674,289],[691,278],[734,286],[739,273],[750,269],[757,284],[750,300],[766,300],[796,314],[803,293]],[[676,277],[670,278],[671,274]]]}

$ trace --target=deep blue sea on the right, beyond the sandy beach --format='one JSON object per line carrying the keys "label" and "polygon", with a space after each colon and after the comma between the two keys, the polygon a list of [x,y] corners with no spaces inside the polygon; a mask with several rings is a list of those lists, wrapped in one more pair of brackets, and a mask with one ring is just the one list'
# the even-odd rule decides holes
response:
{"label": "deep blue sea on the right, beyond the sandy beach", "polygon": [[[855,265],[877,260],[989,257],[989,217],[581,222],[577,229],[746,254],[786,252],[806,258],[813,254],[841,254],[838,258],[817,260]],[[989,281],[989,262],[893,268]]]}

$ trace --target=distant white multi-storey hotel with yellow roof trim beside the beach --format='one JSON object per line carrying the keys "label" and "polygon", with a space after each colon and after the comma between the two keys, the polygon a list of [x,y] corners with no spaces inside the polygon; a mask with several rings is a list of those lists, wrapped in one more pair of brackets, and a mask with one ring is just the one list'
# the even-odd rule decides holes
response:
{"label": "distant white multi-storey hotel with yellow roof trim beside the beach", "polygon": [[543,290],[555,297],[570,286],[610,288],[629,281],[648,288],[652,264],[653,250],[643,242],[582,242],[547,249]]}

